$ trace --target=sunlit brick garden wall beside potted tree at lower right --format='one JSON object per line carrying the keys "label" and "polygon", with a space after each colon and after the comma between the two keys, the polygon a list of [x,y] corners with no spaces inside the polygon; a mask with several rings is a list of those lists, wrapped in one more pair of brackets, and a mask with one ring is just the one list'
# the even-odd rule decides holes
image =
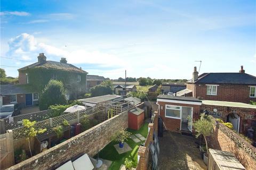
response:
{"label": "sunlit brick garden wall beside potted tree at lower right", "polygon": [[256,167],[256,148],[234,131],[217,122],[210,137],[210,148],[231,152],[247,170]]}

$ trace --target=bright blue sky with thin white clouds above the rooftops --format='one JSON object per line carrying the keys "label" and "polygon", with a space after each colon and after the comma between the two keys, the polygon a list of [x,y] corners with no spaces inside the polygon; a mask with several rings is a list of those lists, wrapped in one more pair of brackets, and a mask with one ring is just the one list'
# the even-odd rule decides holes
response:
{"label": "bright blue sky with thin white clouds above the rooftops", "polygon": [[1,0],[1,68],[39,53],[110,79],[190,79],[195,61],[256,76],[256,1]]}

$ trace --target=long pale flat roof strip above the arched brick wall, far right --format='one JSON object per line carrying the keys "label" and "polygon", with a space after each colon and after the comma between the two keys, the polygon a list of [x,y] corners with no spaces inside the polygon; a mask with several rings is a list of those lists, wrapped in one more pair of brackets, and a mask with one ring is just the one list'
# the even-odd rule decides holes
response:
{"label": "long pale flat roof strip above the arched brick wall, far right", "polygon": [[249,104],[245,104],[245,103],[238,103],[238,102],[231,102],[231,101],[202,100],[202,104],[214,105],[214,106],[255,108],[256,109],[256,105],[249,105]]}

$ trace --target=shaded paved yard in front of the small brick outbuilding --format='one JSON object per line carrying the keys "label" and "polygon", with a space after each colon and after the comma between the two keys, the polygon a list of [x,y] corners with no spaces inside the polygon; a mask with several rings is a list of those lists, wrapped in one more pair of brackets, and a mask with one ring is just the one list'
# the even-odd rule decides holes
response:
{"label": "shaded paved yard in front of the small brick outbuilding", "polygon": [[175,132],[164,132],[159,138],[159,170],[207,169],[195,143],[197,139]]}

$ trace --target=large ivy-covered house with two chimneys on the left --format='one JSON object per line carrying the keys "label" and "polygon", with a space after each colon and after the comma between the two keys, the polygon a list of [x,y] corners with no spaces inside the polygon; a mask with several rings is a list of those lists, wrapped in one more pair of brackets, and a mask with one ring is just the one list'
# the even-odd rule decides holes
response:
{"label": "large ivy-covered house with two chimneys on the left", "polygon": [[60,62],[46,61],[44,53],[39,54],[38,62],[18,69],[19,84],[27,84],[41,92],[49,80],[60,80],[67,89],[67,98],[76,99],[86,92],[87,72],[72,64],[66,58]]}

